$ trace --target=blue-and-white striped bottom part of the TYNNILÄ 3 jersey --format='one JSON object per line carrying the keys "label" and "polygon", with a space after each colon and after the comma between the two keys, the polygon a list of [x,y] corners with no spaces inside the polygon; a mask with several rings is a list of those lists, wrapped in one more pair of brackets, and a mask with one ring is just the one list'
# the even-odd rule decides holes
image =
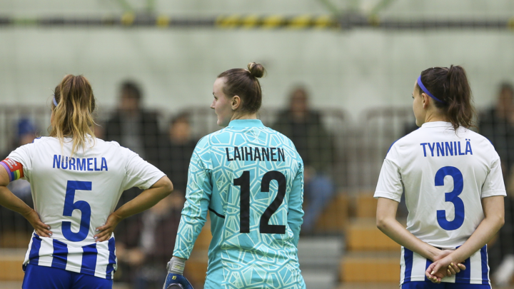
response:
{"label": "blue-and-white striped bottom part of the TYNNIL\u00c4 3 jersey", "polygon": [[[400,284],[425,280],[430,282],[425,277],[425,270],[431,263],[431,260],[424,258],[418,253],[414,253],[408,248],[402,247]],[[466,266],[466,270],[462,270],[456,275],[445,277],[441,282],[490,285],[487,245],[473,253],[463,264]]]}

